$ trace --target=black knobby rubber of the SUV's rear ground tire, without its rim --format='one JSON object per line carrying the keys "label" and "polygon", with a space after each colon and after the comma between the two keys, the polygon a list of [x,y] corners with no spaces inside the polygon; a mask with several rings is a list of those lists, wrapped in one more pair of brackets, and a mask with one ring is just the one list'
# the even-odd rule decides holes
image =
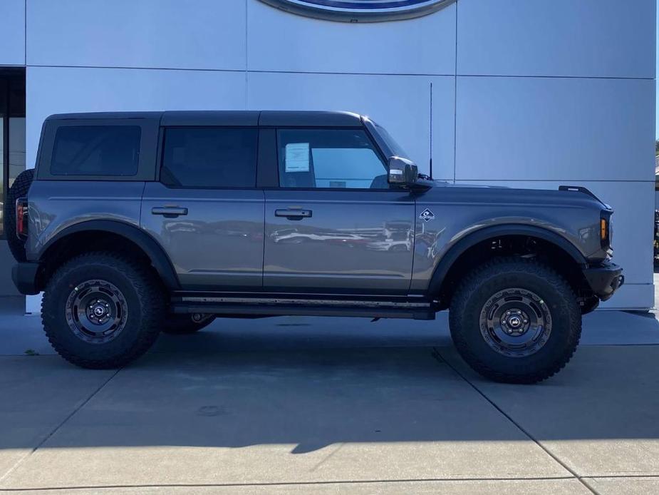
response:
{"label": "black knobby rubber of the SUV's rear ground tire, without its rim", "polygon": [[[85,342],[66,319],[69,295],[86,280],[104,280],[125,298],[123,330],[110,342]],[[159,281],[146,267],[113,252],[90,252],[58,268],[46,285],[41,321],[53,349],[68,362],[83,368],[116,369],[147,352],[160,334],[165,297]]]}

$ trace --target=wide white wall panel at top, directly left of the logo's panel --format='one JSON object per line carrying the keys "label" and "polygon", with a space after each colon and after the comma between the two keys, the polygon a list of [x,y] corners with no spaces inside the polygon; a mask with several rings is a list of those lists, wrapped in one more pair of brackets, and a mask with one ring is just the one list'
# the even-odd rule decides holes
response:
{"label": "wide white wall panel at top, directly left of the logo's panel", "polygon": [[245,69],[247,0],[28,0],[28,64]]}

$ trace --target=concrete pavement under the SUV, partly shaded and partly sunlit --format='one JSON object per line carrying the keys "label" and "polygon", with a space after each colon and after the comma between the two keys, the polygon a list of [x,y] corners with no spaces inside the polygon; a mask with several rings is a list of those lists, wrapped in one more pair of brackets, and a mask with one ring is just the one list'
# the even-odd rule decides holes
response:
{"label": "concrete pavement under the SUV, partly shaded and partly sunlit", "polygon": [[94,372],[0,304],[0,492],[659,491],[652,314],[588,315],[563,372],[511,386],[462,362],[445,316],[217,320]]}

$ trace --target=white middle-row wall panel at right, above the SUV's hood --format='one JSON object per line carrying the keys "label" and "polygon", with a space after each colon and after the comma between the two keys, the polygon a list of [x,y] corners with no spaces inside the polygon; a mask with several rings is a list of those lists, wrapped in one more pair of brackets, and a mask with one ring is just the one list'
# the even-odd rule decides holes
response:
{"label": "white middle-row wall panel at right, above the SUV's hood", "polygon": [[457,78],[457,180],[654,180],[649,79]]}

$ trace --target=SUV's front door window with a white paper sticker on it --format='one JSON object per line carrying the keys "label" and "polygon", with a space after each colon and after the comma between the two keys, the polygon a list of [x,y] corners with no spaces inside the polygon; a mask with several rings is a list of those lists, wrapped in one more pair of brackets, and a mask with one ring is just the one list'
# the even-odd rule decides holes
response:
{"label": "SUV's front door window with a white paper sticker on it", "polygon": [[280,129],[282,188],[387,189],[387,168],[361,129]]}

